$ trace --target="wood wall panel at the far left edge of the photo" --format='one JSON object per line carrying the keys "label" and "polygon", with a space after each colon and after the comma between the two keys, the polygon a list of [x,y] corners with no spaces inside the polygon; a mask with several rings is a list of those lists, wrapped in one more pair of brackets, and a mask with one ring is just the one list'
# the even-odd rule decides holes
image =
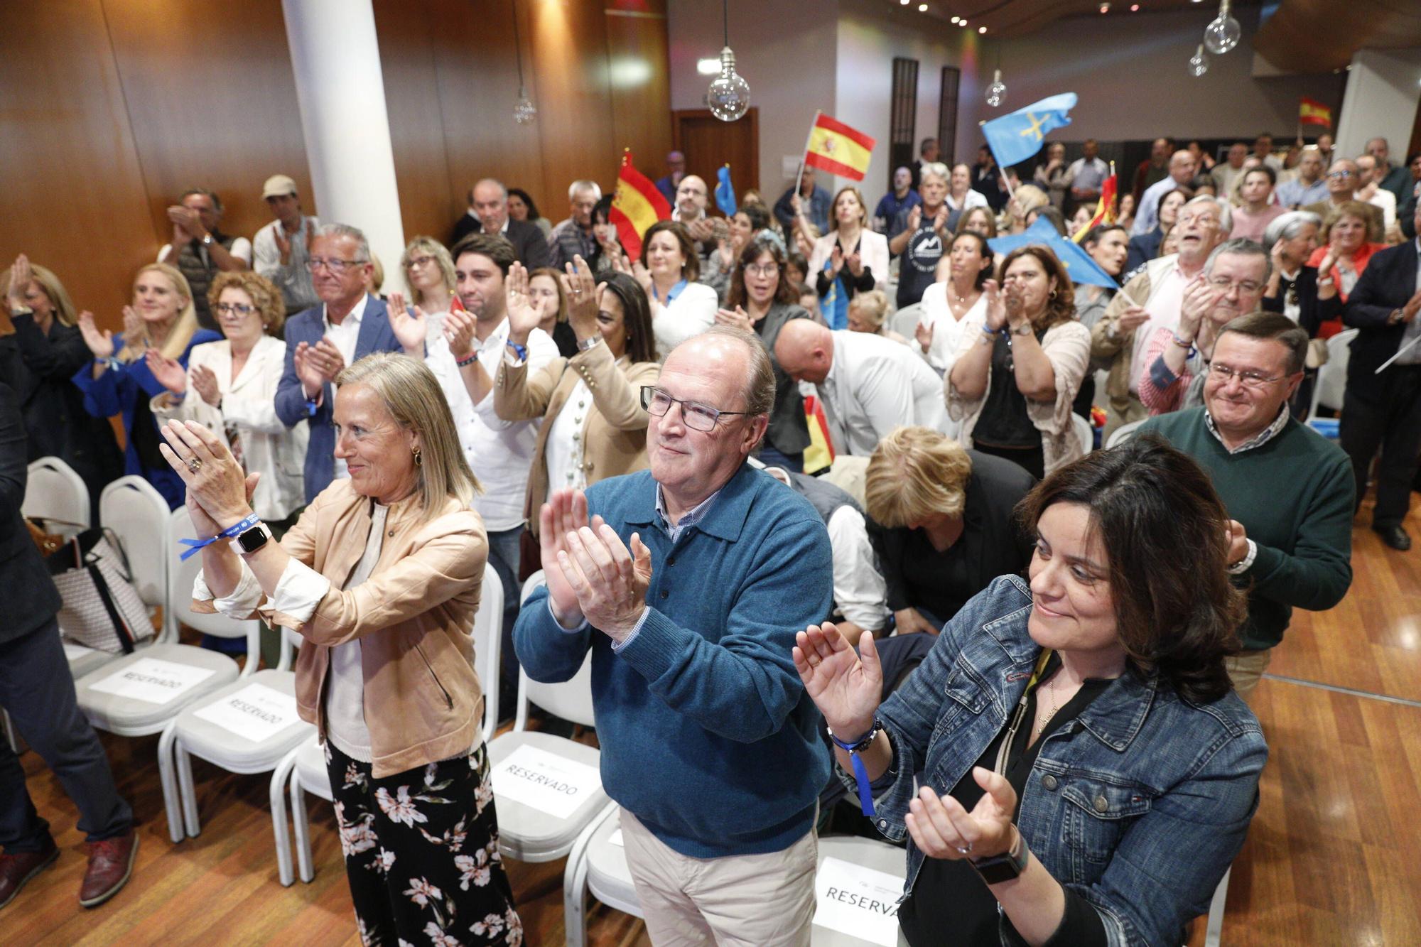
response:
{"label": "wood wall panel at the far left edge of the photo", "polygon": [[0,266],[48,266],[74,304],[122,326],[156,230],[99,0],[0,3]]}

